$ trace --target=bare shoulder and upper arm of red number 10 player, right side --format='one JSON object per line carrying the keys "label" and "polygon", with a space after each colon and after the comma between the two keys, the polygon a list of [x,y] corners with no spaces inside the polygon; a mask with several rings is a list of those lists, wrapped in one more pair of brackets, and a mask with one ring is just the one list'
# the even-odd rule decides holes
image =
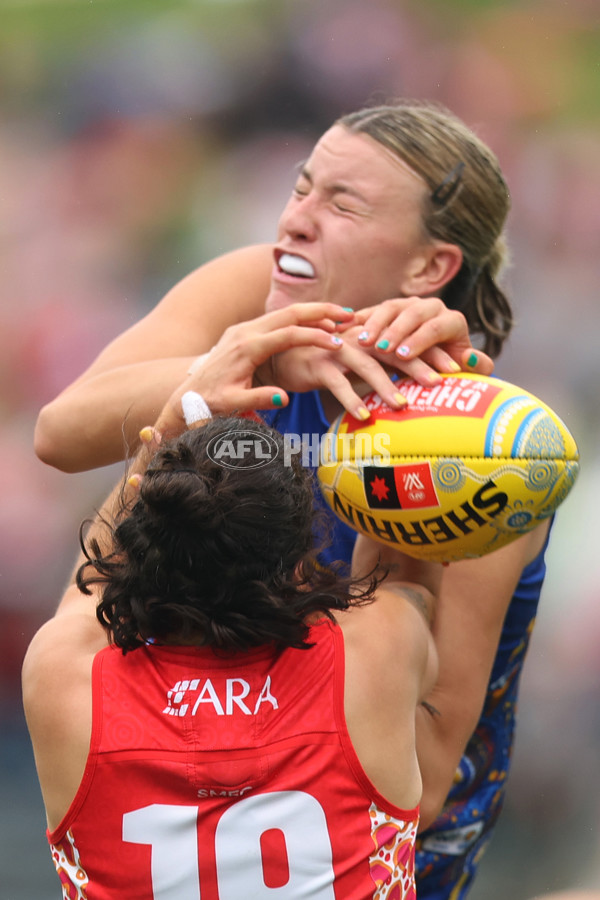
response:
{"label": "bare shoulder and upper arm of red number 10 player, right side", "polygon": [[437,674],[431,621],[442,567],[359,535],[353,574],[361,577],[378,563],[388,575],[375,601],[337,614],[344,634],[346,722],[371,781],[396,805],[411,808],[422,789],[415,709]]}

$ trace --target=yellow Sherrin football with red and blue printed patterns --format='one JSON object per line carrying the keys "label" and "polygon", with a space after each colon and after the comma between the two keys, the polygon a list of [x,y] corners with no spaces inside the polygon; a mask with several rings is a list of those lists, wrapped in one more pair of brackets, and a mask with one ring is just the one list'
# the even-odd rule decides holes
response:
{"label": "yellow Sherrin football with red and blue printed patterns", "polygon": [[577,445],[528,391],[468,373],[398,389],[403,409],[370,393],[370,419],[345,412],[323,441],[321,491],[356,531],[423,559],[479,557],[535,528],[573,487]]}

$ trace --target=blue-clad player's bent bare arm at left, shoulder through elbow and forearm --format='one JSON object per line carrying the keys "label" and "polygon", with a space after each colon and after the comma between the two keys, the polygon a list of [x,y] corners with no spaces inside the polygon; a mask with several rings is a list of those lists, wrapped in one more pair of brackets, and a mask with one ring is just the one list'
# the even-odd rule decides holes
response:
{"label": "blue-clad player's bent bare arm at left, shoulder through elbow and forearm", "polygon": [[179,282],[43,407],[34,437],[40,459],[66,472],[123,459],[191,361],[229,325],[264,312],[271,265],[270,246],[246,247]]}

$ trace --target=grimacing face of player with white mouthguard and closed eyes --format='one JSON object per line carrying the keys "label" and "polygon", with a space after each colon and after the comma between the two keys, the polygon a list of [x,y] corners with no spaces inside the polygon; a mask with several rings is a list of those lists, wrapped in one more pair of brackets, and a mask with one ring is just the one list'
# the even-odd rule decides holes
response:
{"label": "grimacing face of player with white mouthguard and closed eyes", "polygon": [[267,311],[329,300],[353,309],[410,293],[428,240],[425,182],[365,134],[334,125],[279,220]]}

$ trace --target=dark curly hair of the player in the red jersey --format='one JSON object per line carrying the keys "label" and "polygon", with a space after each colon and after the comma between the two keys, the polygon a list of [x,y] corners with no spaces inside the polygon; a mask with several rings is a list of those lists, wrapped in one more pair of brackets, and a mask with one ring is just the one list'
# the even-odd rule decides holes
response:
{"label": "dark curly hair of the player in the red jersey", "polygon": [[[267,445],[277,455],[257,465]],[[211,447],[215,457],[242,446],[228,465],[211,457]],[[377,583],[360,588],[318,565],[313,497],[312,473],[286,455],[279,433],[213,419],[160,446],[133,507],[111,526],[108,555],[81,539],[77,585],[102,586],[97,616],[124,652],[149,640],[308,646],[310,617],[370,601]]]}

